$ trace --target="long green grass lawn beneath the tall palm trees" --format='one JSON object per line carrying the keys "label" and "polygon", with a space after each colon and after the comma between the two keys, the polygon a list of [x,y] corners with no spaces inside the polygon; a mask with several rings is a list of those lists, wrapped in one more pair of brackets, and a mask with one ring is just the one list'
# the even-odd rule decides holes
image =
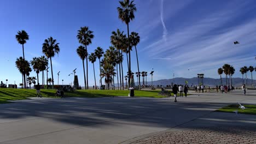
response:
{"label": "long green grass lawn beneath the tall palm trees", "polygon": [[[55,96],[55,90],[53,89],[41,89],[43,97],[59,98]],[[160,91],[135,91],[135,97],[149,97],[149,98],[165,98],[165,96],[158,95]],[[65,97],[116,97],[116,96],[128,96],[129,91],[118,90],[77,90],[74,92],[65,92]],[[173,94],[172,94],[173,95]],[[29,97],[36,97],[35,89],[13,89],[13,88],[0,88],[0,104],[10,103],[7,100],[21,100]]]}

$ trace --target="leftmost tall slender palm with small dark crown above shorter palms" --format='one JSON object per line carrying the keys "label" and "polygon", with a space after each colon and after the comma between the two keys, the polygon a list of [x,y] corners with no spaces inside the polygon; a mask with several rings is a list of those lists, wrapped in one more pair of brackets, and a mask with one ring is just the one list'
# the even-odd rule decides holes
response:
{"label": "leftmost tall slender palm with small dark crown above shorter palms", "polygon": [[[24,44],[27,43],[27,40],[29,39],[29,36],[26,31],[22,30],[19,31],[18,34],[16,34],[16,40],[18,41],[19,44],[22,45],[22,51],[23,51],[23,61],[25,63],[25,54],[24,54]],[[24,86],[26,88],[26,75],[25,72],[23,72],[23,79],[24,79]],[[22,80],[23,81],[23,80]]]}

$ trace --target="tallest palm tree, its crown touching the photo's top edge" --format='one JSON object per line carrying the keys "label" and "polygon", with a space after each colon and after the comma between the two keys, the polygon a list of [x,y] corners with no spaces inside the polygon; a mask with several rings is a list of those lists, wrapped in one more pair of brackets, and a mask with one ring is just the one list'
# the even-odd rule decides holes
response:
{"label": "tallest palm tree, its crown touching the photo's top edge", "polygon": [[[124,0],[119,1],[119,4],[121,7],[118,7],[118,14],[119,19],[126,23],[127,25],[127,35],[128,35],[128,45],[130,46],[130,38],[129,38],[129,22],[132,21],[135,18],[134,12],[137,10],[135,7],[135,4],[133,4],[134,1],[130,0]],[[130,87],[130,80],[131,80],[131,53],[129,49],[129,82],[128,85]]]}

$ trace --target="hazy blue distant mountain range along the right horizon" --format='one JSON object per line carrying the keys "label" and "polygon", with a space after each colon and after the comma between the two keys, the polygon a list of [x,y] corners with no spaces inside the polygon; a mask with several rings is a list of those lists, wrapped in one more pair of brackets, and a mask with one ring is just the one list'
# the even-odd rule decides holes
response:
{"label": "hazy blue distant mountain range along the right horizon", "polygon": [[[228,79],[229,80],[229,79]],[[153,81],[153,85],[157,86],[157,85],[171,85],[171,83],[176,83],[176,84],[181,84],[181,85],[185,85],[185,81],[188,81],[188,85],[198,85],[198,77],[193,77],[193,78],[183,78],[183,77],[176,77],[174,79],[164,79],[164,80],[157,80],[157,81]],[[226,79],[223,78],[222,79],[223,85],[226,85]],[[252,80],[247,78],[247,86],[251,87],[252,85]],[[151,85],[151,81],[147,82],[148,85]],[[232,79],[232,85],[233,86],[242,86],[243,83],[243,79],[235,77]],[[246,83],[246,80],[244,80],[244,83]],[[137,85],[137,82],[135,83]],[[146,83],[145,83],[146,84]],[[141,85],[142,85],[142,81],[141,81]],[[205,77],[203,78],[203,85],[206,86],[216,86],[216,85],[220,85],[220,79],[213,79],[213,78],[209,78],[209,77]],[[229,85],[229,83],[228,83]],[[253,80],[253,85],[256,86],[256,80]]]}

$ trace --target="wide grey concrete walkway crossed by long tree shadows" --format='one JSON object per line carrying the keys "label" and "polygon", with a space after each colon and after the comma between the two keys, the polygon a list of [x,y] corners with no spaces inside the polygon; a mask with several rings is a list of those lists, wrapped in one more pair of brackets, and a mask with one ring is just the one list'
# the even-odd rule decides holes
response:
{"label": "wide grey concrete walkway crossed by long tree shadows", "polygon": [[191,131],[220,137],[235,136],[229,131],[237,130],[239,136],[237,126],[255,137],[256,129],[247,127],[256,125],[256,116],[213,112],[237,102],[256,104],[256,91],[241,94],[203,93],[178,98],[178,103],[172,97],[19,100],[0,105],[0,143],[139,143],[151,137],[171,140]]}

